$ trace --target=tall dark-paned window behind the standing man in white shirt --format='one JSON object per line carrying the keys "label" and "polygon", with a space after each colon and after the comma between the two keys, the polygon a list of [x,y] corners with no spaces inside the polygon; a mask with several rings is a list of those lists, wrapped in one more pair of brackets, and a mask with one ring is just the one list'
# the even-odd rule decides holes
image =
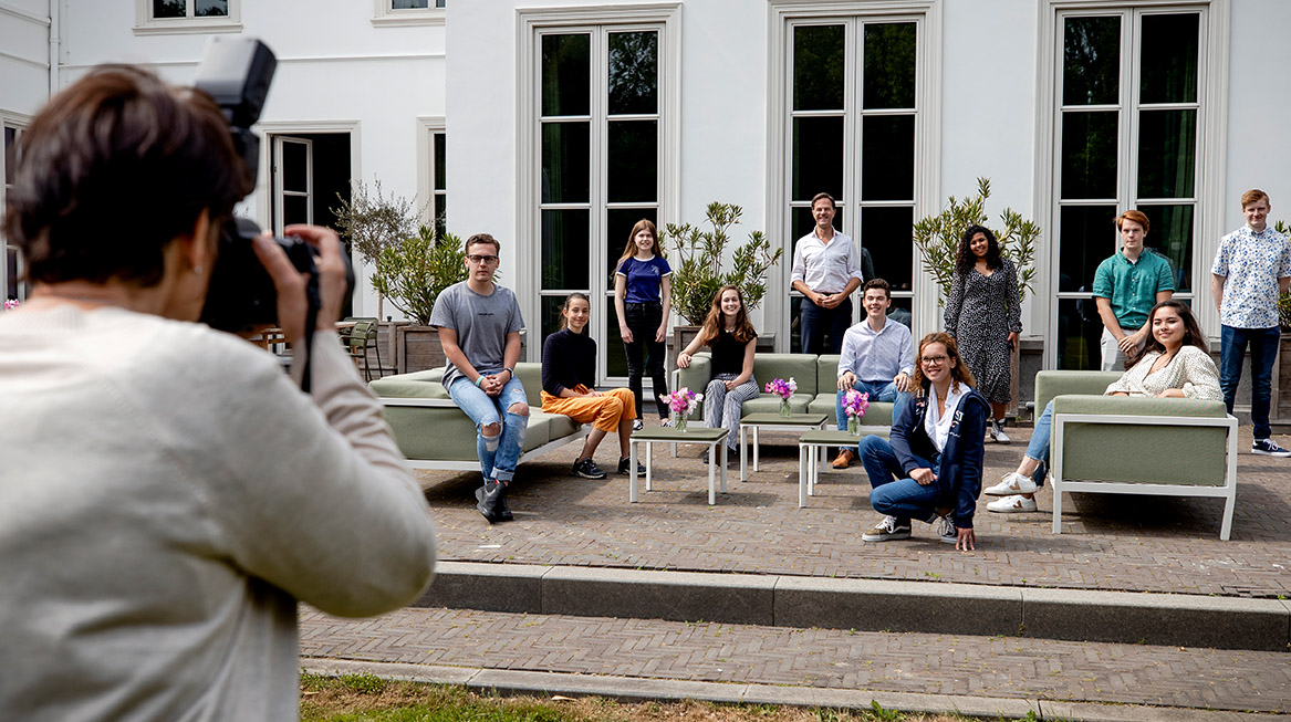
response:
{"label": "tall dark-paned window behind the standing man in white shirt", "polygon": [[[906,324],[922,111],[919,27],[914,18],[797,22],[790,26],[788,81],[791,142],[785,254],[791,258],[798,239],[815,226],[812,196],[830,193],[838,201],[834,227],[864,249],[866,277],[892,284],[893,316]],[[794,291],[791,348],[799,347],[800,303]]]}

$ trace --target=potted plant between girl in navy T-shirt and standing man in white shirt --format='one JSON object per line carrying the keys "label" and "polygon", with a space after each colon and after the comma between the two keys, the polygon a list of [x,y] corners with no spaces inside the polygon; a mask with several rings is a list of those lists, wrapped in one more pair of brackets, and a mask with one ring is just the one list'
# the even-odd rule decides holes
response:
{"label": "potted plant between girl in navy T-shirt and standing man in white shirt", "polygon": [[[726,269],[726,249],[731,244],[729,228],[740,223],[744,209],[720,201],[709,204],[705,219],[698,226],[669,223],[660,233],[660,248],[666,253],[673,242],[673,311],[689,326],[673,329],[673,348],[686,348],[713,307],[713,297],[727,284],[740,286],[744,304],[753,309],[767,295],[767,272],[784,254],[784,249],[771,250],[771,241],[762,231],[750,231],[749,240],[736,246],[731,254],[731,267]],[[704,226],[707,224],[709,229]],[[773,342],[769,334],[768,340]],[[671,364],[671,360],[670,360]]]}

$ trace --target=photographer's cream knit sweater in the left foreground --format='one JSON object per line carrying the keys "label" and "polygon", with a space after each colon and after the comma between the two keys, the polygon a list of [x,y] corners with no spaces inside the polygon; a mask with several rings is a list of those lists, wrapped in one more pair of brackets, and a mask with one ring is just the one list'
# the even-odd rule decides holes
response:
{"label": "photographer's cream knit sweater in the left foreground", "polygon": [[297,719],[297,600],[417,598],[425,498],[315,343],[310,398],[198,324],[0,313],[0,717]]}

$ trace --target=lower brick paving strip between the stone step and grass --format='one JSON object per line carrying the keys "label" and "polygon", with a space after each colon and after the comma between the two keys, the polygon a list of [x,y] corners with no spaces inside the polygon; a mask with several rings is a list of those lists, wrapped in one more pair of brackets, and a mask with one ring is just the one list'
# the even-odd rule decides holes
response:
{"label": "lower brick paving strip between the stone step and grass", "polygon": [[306,656],[935,695],[1291,710],[1285,652],[405,609],[301,610]]}

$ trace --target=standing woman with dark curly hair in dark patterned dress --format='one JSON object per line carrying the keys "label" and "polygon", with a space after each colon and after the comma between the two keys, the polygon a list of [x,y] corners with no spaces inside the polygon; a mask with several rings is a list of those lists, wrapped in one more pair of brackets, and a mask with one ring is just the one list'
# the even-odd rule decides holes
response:
{"label": "standing woman with dark curly hair in dark patterned dress", "polygon": [[1010,352],[1022,331],[1017,269],[999,255],[995,233],[970,226],[959,240],[955,278],[945,311],[946,333],[977,379],[977,391],[990,402],[990,437],[1008,444],[1004,414],[1010,400]]}

